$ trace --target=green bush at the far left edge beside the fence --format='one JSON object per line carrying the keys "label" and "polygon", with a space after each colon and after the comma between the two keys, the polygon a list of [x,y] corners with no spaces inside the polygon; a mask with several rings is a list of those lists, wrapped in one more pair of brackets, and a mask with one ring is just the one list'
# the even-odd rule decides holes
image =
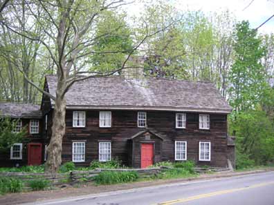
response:
{"label": "green bush at the far left edge beside the fence", "polygon": [[24,187],[21,179],[12,177],[0,178],[0,194],[21,192]]}

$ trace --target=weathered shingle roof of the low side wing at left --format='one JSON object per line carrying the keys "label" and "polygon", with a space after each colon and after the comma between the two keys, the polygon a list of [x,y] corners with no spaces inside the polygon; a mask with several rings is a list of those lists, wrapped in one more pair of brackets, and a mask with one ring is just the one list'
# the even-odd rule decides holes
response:
{"label": "weathered shingle roof of the low side wing at left", "polygon": [[42,117],[42,112],[40,106],[33,104],[0,102],[0,116],[39,119]]}

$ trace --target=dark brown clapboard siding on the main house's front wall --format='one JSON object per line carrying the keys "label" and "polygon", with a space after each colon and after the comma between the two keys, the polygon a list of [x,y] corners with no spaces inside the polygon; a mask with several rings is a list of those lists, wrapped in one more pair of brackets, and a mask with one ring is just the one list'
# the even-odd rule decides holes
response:
{"label": "dark brown clapboard siding on the main house's front wall", "polygon": [[[66,135],[63,140],[63,162],[72,160],[72,142],[86,141],[86,161],[77,163],[89,165],[98,160],[98,142],[111,141],[111,157],[118,157],[124,164],[140,167],[140,141],[144,136],[131,137],[146,130],[137,127],[137,113],[132,110],[114,110],[111,112],[111,128],[99,127],[99,111],[86,110],[86,127],[73,128],[73,110],[66,110]],[[139,110],[142,111],[142,110]],[[188,142],[188,159],[198,164],[226,166],[227,164],[227,116],[210,115],[210,130],[199,130],[199,113],[187,113],[185,129],[175,128],[175,112],[147,112],[147,130],[152,130],[163,137],[159,139],[152,134],[154,141],[154,162],[174,161],[174,141]],[[159,142],[160,141],[160,142]],[[199,162],[199,141],[211,142],[211,162]],[[134,146],[134,148],[132,148]],[[131,153],[132,152],[132,153]],[[134,159],[132,162],[130,159]]]}

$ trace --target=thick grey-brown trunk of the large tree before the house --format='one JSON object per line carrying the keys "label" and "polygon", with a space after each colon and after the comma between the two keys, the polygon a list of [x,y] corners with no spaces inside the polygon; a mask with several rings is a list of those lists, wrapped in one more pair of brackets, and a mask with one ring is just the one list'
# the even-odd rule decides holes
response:
{"label": "thick grey-brown trunk of the large tree before the house", "polygon": [[51,142],[47,147],[48,159],[46,161],[46,172],[57,173],[62,163],[62,141],[66,130],[66,97],[62,95],[66,86],[66,80],[58,81],[53,113],[53,126]]}

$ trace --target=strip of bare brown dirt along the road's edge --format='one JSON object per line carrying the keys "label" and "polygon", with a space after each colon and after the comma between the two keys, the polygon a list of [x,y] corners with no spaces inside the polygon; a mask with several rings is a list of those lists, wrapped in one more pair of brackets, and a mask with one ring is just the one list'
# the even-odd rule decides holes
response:
{"label": "strip of bare brown dirt along the road's edge", "polygon": [[30,202],[41,202],[44,200],[50,199],[60,199],[65,197],[76,197],[81,195],[91,195],[97,193],[105,193],[109,191],[120,191],[127,190],[131,188],[141,188],[147,186],[155,186],[161,184],[171,184],[176,182],[189,182],[198,179],[214,179],[219,177],[233,177],[239,175],[248,175],[253,173],[262,173],[266,171],[270,171],[273,169],[264,169],[264,170],[253,170],[246,172],[226,172],[226,173],[214,173],[214,174],[206,174],[199,175],[199,177],[185,178],[185,179],[158,179],[154,181],[146,181],[146,182],[134,182],[129,184],[116,184],[116,185],[107,185],[107,186],[95,186],[93,184],[87,184],[85,186],[81,186],[79,188],[75,187],[66,187],[60,188],[57,190],[51,191],[34,191],[28,193],[12,193],[8,195],[4,195],[0,197],[1,205],[13,205],[13,204],[24,204]]}

